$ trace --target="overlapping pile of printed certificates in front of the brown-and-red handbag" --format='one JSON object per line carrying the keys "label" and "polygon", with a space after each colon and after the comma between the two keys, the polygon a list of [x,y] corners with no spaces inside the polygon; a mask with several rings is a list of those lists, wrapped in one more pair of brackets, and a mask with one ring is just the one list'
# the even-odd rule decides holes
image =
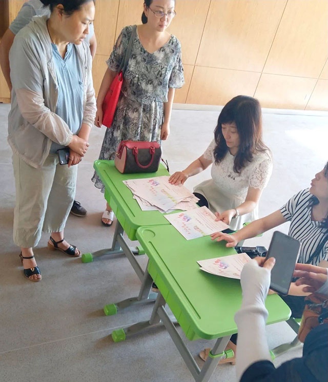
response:
{"label": "overlapping pile of printed certificates in front of the brown-and-red handbag", "polygon": [[142,211],[170,212],[197,208],[199,200],[182,184],[172,185],[169,176],[124,180]]}

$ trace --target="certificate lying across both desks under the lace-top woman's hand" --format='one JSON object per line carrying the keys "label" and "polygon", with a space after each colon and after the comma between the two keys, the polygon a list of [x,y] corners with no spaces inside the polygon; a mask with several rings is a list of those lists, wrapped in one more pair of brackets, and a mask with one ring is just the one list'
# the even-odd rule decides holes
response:
{"label": "certificate lying across both desks under the lace-top woman's hand", "polygon": [[214,232],[229,228],[228,224],[222,221],[216,221],[215,215],[207,207],[165,215],[165,218],[168,219],[187,240],[211,235]]}

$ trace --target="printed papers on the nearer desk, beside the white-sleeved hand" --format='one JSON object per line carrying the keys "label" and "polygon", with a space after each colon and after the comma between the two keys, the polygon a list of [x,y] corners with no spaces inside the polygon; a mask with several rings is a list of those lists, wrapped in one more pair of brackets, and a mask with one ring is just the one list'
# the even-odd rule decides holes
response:
{"label": "printed papers on the nearer desk, beside the white-sleeved hand", "polygon": [[199,260],[200,269],[212,275],[240,279],[243,266],[252,259],[245,253]]}

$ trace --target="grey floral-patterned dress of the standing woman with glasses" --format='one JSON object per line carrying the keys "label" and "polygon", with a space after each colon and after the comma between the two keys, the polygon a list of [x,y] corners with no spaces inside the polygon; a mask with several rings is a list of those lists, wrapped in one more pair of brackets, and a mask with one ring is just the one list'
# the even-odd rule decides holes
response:
{"label": "grey floral-patterned dress of the standing woman with glasses", "polygon": [[[109,69],[118,71],[124,59],[134,26],[122,29],[107,61]],[[99,159],[114,159],[120,141],[160,141],[163,123],[163,103],[168,101],[169,88],[180,88],[185,83],[181,62],[181,46],[174,35],[154,53],[140,43],[138,32],[117,103],[111,128],[105,133]],[[92,181],[105,192],[96,173]]]}

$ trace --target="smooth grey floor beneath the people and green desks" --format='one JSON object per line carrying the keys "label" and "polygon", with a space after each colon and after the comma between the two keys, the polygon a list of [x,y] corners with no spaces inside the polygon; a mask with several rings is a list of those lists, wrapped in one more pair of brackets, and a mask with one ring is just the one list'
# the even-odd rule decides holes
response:
{"label": "smooth grey floor beneath the people and green desks", "polygon": [[[153,330],[114,343],[115,328],[146,319],[151,307],[106,317],[105,303],[136,295],[140,282],[125,258],[101,259],[82,264],[79,259],[49,252],[44,235],[35,250],[43,280],[32,283],[23,277],[18,248],[12,241],[14,182],[11,149],[7,144],[9,105],[0,104],[0,381],[83,382],[192,381],[165,330]],[[183,169],[202,154],[212,139],[218,111],[173,110],[169,141],[163,144],[171,173]],[[308,187],[316,171],[327,161],[327,115],[263,114],[264,140],[274,157],[274,171],[260,202],[260,214],[279,208],[295,192]],[[111,244],[114,225],[100,224],[104,197],[90,181],[105,128],[94,128],[91,147],[79,165],[76,199],[88,210],[85,218],[70,216],[65,236],[82,252]],[[209,170],[191,178],[187,186],[209,177]],[[288,225],[281,227],[288,231]],[[272,233],[251,239],[250,245],[268,245]],[[145,265],[146,257],[140,256]],[[285,323],[268,327],[271,348],[291,341],[294,332]],[[207,344],[189,342],[195,359]],[[301,354],[301,348],[280,356],[275,363]],[[169,366],[169,367],[168,367]],[[234,367],[217,368],[213,381],[235,381]]]}

